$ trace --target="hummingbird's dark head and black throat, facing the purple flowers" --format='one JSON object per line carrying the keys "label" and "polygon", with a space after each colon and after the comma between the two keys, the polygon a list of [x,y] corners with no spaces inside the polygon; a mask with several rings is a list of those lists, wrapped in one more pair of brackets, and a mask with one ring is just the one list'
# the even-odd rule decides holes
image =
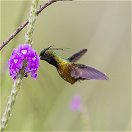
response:
{"label": "hummingbird's dark head and black throat, facing the purple flowers", "polygon": [[55,59],[55,53],[53,52],[53,50],[51,49],[52,46],[46,48],[46,49],[43,49],[41,52],[40,52],[40,59],[41,60],[45,60],[47,61],[48,63],[54,65],[55,67],[57,67],[57,61]]}

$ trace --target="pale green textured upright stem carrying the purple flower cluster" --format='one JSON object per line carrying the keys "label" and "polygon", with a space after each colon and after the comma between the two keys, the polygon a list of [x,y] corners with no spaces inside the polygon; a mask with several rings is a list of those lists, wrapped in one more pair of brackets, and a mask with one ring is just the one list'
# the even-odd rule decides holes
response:
{"label": "pale green textured upright stem carrying the purple flower cluster", "polygon": [[[32,44],[32,40],[33,40],[33,31],[34,31],[34,25],[35,25],[35,21],[36,21],[36,10],[37,10],[37,6],[38,6],[38,1],[39,0],[33,0],[32,5],[31,5],[28,31],[25,35],[25,42],[29,43],[29,44]],[[15,104],[18,92],[20,90],[20,87],[22,84],[22,79],[24,77],[25,67],[26,67],[26,63],[23,62],[23,68],[20,70],[20,73],[19,73],[20,76],[14,81],[10,96],[7,101],[5,111],[4,111],[4,113],[2,115],[2,119],[1,119],[1,131],[2,132],[4,132],[4,130],[8,124],[9,118],[11,116],[11,112],[12,112],[13,106]]]}

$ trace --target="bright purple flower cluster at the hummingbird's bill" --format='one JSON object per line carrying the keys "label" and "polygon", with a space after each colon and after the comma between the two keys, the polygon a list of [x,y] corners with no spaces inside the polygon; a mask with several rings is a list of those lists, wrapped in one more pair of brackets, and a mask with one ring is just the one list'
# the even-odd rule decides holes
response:
{"label": "bright purple flower cluster at the hummingbird's bill", "polygon": [[17,49],[14,49],[8,61],[10,76],[15,80],[20,75],[24,62],[26,66],[24,74],[30,73],[31,77],[37,78],[37,70],[39,68],[39,56],[29,44],[22,44]]}

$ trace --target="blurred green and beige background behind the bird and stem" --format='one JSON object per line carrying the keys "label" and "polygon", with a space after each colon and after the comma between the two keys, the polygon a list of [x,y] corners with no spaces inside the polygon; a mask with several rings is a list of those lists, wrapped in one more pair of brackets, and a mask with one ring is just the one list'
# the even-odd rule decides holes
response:
{"label": "blurred green and beige background behind the bird and stem", "polygon": [[[30,4],[1,1],[1,42],[26,20]],[[130,131],[130,6],[130,1],[56,2],[37,17],[33,48],[38,54],[50,45],[70,48],[57,51],[63,57],[87,48],[79,63],[100,69],[109,80],[71,85],[53,66],[41,61],[38,79],[23,81],[8,131]],[[1,112],[13,83],[7,62],[12,49],[24,43],[26,30],[1,51]],[[70,110],[74,95],[81,96],[85,113]]]}

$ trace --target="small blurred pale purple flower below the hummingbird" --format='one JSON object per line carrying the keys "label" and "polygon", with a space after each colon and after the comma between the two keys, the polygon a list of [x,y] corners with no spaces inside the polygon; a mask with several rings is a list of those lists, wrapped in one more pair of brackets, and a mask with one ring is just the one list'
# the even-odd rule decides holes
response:
{"label": "small blurred pale purple flower below the hummingbird", "polygon": [[70,108],[72,111],[80,111],[81,110],[81,97],[79,95],[75,95],[72,98],[70,103]]}

